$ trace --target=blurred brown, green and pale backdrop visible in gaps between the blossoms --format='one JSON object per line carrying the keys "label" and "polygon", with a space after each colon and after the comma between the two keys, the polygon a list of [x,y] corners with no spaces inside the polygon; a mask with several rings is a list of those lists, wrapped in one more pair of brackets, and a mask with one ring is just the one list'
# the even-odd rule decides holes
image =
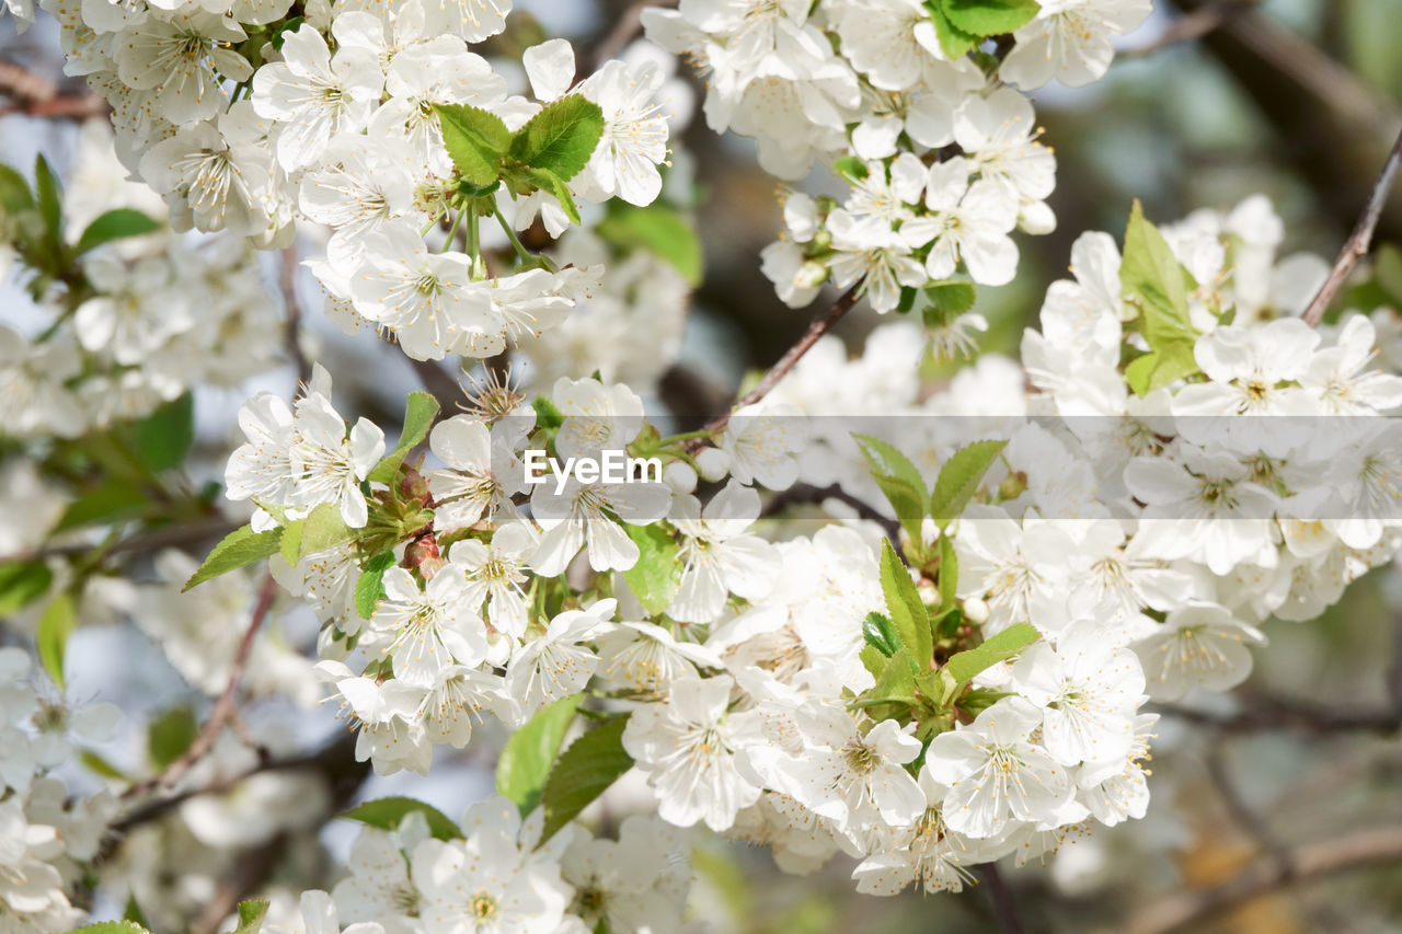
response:
{"label": "blurred brown, green and pale backdrop visible in gaps between the blossoms", "polygon": [[[1023,259],[1012,285],[980,289],[976,310],[991,323],[986,352],[1016,352],[1047,283],[1064,275],[1074,238],[1084,230],[1119,237],[1134,198],[1150,217],[1169,222],[1266,194],[1286,223],[1281,252],[1309,250],[1330,259],[1363,208],[1402,126],[1402,0],[1157,0],[1155,7],[1150,22],[1123,41],[1105,80],[1080,90],[1050,86],[1035,95],[1044,140],[1057,156],[1050,205],[1059,229],[1019,240]],[[627,0],[519,0],[517,8],[536,18],[541,34],[585,46],[608,41],[637,15]],[[517,17],[502,42],[529,45],[536,28]],[[11,65],[50,86],[35,97],[34,87],[17,84]],[[77,121],[95,111],[74,105],[64,112],[43,102],[84,91],[62,76],[50,20],[41,15],[22,36],[13,20],[0,20],[0,160],[25,167],[42,150],[63,167],[76,147]],[[756,168],[753,144],[716,137],[697,119],[684,146],[693,156],[707,252],[680,360],[659,388],[681,422],[721,411],[743,370],[780,356],[810,314],[784,307],[760,275],[757,254],[774,238],[780,212],[775,181]],[[1402,194],[1394,194],[1382,216],[1378,243],[1402,243]],[[1363,310],[1395,302],[1388,283],[1374,276],[1352,297]],[[416,386],[402,355],[343,339],[315,311],[315,285],[297,280],[296,287],[311,309],[318,352],[338,374],[338,393],[355,400],[350,411],[393,424],[404,393]],[[0,292],[0,317],[22,320],[25,311],[18,292]],[[858,313],[840,332],[859,349],[876,323],[876,316]],[[360,384],[339,383],[341,373],[355,372],[366,376]],[[245,388],[286,393],[290,384],[285,369]],[[217,457],[227,452],[229,425],[244,395],[199,400],[202,442]],[[1218,710],[1165,712],[1148,816],[1068,841],[1047,867],[1005,869],[1001,895],[984,884],[959,896],[876,900],[852,893],[851,865],[843,858],[816,878],[795,878],[780,874],[767,853],[711,841],[697,860],[697,910],[716,930],[756,934],[962,933],[1000,924],[1157,931],[1213,898],[1249,895],[1255,889],[1248,884],[1259,884],[1263,895],[1234,899],[1228,910],[1182,930],[1402,931],[1402,864],[1367,861],[1293,878],[1301,854],[1326,860],[1340,839],[1402,825],[1399,621],[1402,575],[1385,568],[1316,623],[1270,623],[1270,647],[1258,652],[1252,679],[1220,698]],[[306,627],[289,631],[293,642],[310,644]],[[133,719],[189,696],[135,631],[84,630],[74,638],[72,683],[115,700]],[[114,656],[123,663],[114,666]],[[248,715],[255,728],[278,724],[292,746],[341,729],[324,710],[292,717],[269,703],[251,705]],[[355,794],[414,794],[460,813],[489,794],[494,742],[499,739],[474,739],[464,769],[436,769],[430,780],[372,777]],[[119,736],[104,752],[122,763],[135,754],[133,745],[139,738]],[[353,833],[332,822],[320,841],[343,857]],[[1000,919],[1000,905],[1004,914],[1014,905],[1016,917]]]}

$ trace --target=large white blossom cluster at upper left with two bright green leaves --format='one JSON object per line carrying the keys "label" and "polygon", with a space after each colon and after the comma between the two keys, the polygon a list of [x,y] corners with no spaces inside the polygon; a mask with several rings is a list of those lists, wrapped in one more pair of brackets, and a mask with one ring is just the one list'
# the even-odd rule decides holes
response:
{"label": "large white blossom cluster at upper left with two bright green leaves", "polygon": [[[331,316],[419,360],[494,356],[557,327],[601,266],[559,268],[516,231],[540,217],[558,236],[576,201],[662,191],[666,69],[635,56],[576,83],[554,39],[524,55],[534,100],[513,94],[470,50],[505,28],[505,1],[49,7],[69,72],[112,104],[119,154],[178,229],[273,245],[324,226],[310,265]],[[481,220],[510,244],[491,266]]]}

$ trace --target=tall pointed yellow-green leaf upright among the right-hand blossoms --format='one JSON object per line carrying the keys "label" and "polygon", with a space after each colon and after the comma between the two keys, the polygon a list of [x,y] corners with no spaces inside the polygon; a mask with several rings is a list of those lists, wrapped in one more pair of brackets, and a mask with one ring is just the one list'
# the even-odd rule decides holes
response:
{"label": "tall pointed yellow-green leaf upright among the right-hand blossoms", "polygon": [[1187,292],[1192,279],[1173,257],[1158,227],[1144,219],[1138,201],[1124,229],[1124,259],[1120,262],[1120,290],[1127,302],[1140,306],[1144,314],[1144,338],[1150,349],[1165,344],[1195,341],[1187,311]]}

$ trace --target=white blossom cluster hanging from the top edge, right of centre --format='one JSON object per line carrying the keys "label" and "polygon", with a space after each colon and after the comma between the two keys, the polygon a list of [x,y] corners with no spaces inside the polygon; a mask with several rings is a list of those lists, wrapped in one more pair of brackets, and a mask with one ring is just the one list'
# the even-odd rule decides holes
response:
{"label": "white blossom cluster hanging from the top edge, right of centre", "polygon": [[[1056,224],[1056,160],[1026,91],[1099,79],[1112,39],[1148,11],[1147,0],[683,3],[644,22],[707,74],[712,129],[753,136],[780,178],[837,160],[851,184],[841,206],[788,196],[785,237],[764,251],[780,297],[808,304],[831,279],[861,283],[887,313],[960,269],[974,283],[1012,280],[1009,234]],[[979,50],[997,34],[1011,43]]]}

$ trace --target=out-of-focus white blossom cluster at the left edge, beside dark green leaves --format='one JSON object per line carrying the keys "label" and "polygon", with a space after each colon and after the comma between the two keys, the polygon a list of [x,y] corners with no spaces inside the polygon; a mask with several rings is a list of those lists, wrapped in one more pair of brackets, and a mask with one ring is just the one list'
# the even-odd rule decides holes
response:
{"label": "out-of-focus white blossom cluster at the left edge, beside dark green leaves", "polygon": [[[42,234],[73,243],[72,266],[46,264],[39,250],[49,240],[25,237],[22,223],[0,230],[15,250],[17,278],[52,316],[34,334],[0,324],[0,431],[8,435],[77,438],[276,362],[278,306],[257,252],[230,237],[191,241],[161,230],[139,213],[164,213],[160,202],[123,181],[111,147],[100,125],[83,130],[69,216]],[[18,217],[42,208],[31,202]]]}

